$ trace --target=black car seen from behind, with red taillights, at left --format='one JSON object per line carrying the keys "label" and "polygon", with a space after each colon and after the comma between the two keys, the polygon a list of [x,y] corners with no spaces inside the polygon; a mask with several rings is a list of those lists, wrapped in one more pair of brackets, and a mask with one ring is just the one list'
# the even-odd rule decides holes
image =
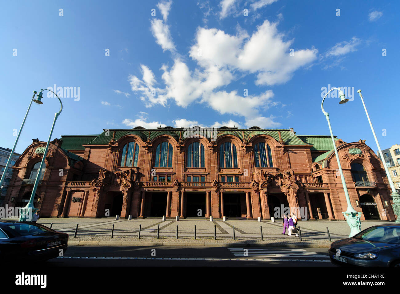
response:
{"label": "black car seen from behind, with red taillights, at left", "polygon": [[65,253],[67,247],[68,234],[34,222],[0,221],[1,261],[44,261]]}

